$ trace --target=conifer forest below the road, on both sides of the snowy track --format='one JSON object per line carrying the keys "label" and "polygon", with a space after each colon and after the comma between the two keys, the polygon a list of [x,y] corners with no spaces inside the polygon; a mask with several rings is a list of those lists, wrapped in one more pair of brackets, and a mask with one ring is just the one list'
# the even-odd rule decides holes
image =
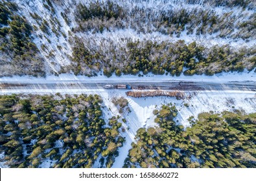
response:
{"label": "conifer forest below the road, on both sides of the snowy track", "polygon": [[[102,119],[95,95],[0,96],[0,151],[10,167],[111,167],[125,138],[122,117]],[[126,107],[122,98],[116,105]],[[123,167],[255,167],[256,113],[203,112],[191,127],[163,105],[157,127],[137,130]],[[108,122],[108,124],[106,124]]]}

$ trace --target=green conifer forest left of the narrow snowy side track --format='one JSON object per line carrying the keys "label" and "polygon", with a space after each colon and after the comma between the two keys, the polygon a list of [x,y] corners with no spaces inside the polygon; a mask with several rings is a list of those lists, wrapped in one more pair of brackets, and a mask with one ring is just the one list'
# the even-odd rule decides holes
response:
{"label": "green conifer forest left of the narrow snowy side track", "polygon": [[111,167],[124,138],[102,119],[100,97],[0,96],[0,151],[9,167]]}

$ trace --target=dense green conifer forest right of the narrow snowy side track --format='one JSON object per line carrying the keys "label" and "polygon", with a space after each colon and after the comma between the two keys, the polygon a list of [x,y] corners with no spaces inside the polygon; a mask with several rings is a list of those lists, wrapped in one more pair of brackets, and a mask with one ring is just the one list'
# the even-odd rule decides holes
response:
{"label": "dense green conifer forest right of the narrow snowy side track", "polygon": [[203,112],[191,127],[177,125],[175,106],[163,105],[159,127],[141,128],[124,167],[255,167],[256,114]]}

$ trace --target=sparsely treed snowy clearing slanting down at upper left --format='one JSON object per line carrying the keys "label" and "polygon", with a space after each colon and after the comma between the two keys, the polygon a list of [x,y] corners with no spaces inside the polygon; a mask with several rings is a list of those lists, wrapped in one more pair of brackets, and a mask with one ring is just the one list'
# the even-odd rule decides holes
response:
{"label": "sparsely treed snowy clearing slanting down at upper left", "polygon": [[[74,26],[75,21],[74,21],[74,17],[70,16],[73,23],[71,23],[71,25],[67,25],[65,23],[64,18],[60,15],[60,13],[64,12],[64,10],[67,8],[75,9],[70,7],[71,3],[64,2],[62,3],[62,6],[58,6],[52,3],[52,5],[54,6],[54,10],[56,12],[55,14],[52,14],[49,10],[47,10],[47,8],[43,6],[42,0],[35,0],[33,2],[27,1],[27,3],[22,3],[20,0],[14,0],[14,2],[16,2],[17,5],[19,5],[19,13],[25,16],[31,25],[38,27],[38,30],[35,30],[33,32],[34,33],[33,41],[37,45],[37,47],[40,49],[41,55],[43,56],[43,58],[47,62],[48,67],[50,68],[47,71],[47,73],[49,74],[51,70],[54,72],[58,72],[58,70],[60,70],[60,66],[69,65],[70,64],[69,56],[71,56],[70,53],[72,52],[72,49],[71,49],[70,43],[68,42],[68,37],[69,37],[68,34],[71,31],[71,28]],[[45,2],[45,4],[47,3]],[[49,28],[48,28],[50,32],[49,35],[41,31],[41,29],[39,28],[41,25],[38,25],[36,20],[30,16],[29,14],[30,12],[38,14],[38,16],[42,18],[42,20],[45,19],[49,23]],[[58,27],[58,26],[57,26],[57,23],[52,25],[52,23],[50,22],[51,17],[56,17],[58,21],[60,21],[60,25],[61,25],[60,31],[59,31],[60,36],[56,36],[56,34],[52,32],[52,28]],[[65,38],[61,34],[61,32],[64,32],[67,38]],[[40,38],[40,36],[42,37]],[[45,37],[50,39],[51,43],[49,43],[47,41],[47,38]],[[45,51],[42,50],[41,45],[45,45],[47,47],[47,50]],[[62,47],[62,49],[59,50],[58,46]],[[53,58],[49,58],[49,54],[51,53],[54,54]]]}

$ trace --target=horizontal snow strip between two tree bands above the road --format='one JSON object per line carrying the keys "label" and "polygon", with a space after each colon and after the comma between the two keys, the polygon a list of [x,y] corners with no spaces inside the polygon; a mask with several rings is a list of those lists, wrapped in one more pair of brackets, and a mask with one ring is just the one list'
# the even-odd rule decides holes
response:
{"label": "horizontal snow strip between two tree bands above the road", "polygon": [[[229,36],[232,36],[237,31],[234,31]],[[102,47],[110,47],[110,43],[114,43],[115,47],[126,47],[126,43],[129,40],[132,41],[156,41],[161,43],[163,41],[167,42],[176,42],[180,40],[184,40],[185,43],[189,44],[192,42],[196,42],[199,45],[204,45],[205,47],[212,47],[215,45],[223,46],[223,45],[230,45],[231,47],[235,48],[242,48],[242,47],[253,47],[256,44],[255,39],[251,41],[246,41],[244,39],[233,39],[231,37],[219,37],[220,32],[215,34],[200,34],[196,35],[196,31],[193,34],[187,34],[187,30],[183,30],[179,37],[174,35],[166,35],[161,34],[160,32],[151,32],[151,33],[142,33],[137,32],[131,28],[126,29],[114,29],[111,31],[104,31],[101,33],[94,33],[94,32],[86,32],[84,33],[77,33],[80,39],[83,39],[84,42],[87,42],[86,47],[88,45],[93,47],[93,50],[98,50],[98,48]],[[100,49],[99,49],[100,50]]]}

